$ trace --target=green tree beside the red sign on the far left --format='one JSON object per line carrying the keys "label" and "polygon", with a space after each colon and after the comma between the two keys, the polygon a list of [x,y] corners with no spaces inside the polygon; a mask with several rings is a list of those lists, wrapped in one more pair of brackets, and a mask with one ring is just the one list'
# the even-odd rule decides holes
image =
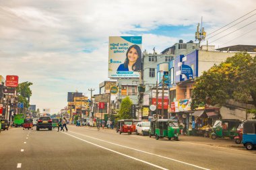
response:
{"label": "green tree beside the red sign on the far left", "polygon": [[28,108],[30,105],[30,96],[32,95],[30,85],[33,83],[26,81],[17,87],[17,93],[20,93],[18,100],[20,103],[24,103],[24,108]]}

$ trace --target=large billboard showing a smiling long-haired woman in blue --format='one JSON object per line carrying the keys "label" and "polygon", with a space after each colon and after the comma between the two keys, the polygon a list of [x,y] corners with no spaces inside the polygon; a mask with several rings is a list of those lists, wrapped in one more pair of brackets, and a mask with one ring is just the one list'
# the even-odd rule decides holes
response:
{"label": "large billboard showing a smiling long-haired woman in blue", "polygon": [[139,78],[141,71],[141,36],[110,36],[108,77]]}

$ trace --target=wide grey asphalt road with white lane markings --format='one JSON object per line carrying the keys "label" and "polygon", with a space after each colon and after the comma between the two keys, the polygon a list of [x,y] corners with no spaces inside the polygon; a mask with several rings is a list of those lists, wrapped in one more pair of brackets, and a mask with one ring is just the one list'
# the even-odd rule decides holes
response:
{"label": "wide grey asphalt road with white lane markings", "polygon": [[167,138],[67,126],[0,134],[0,169],[256,169],[256,150],[227,139]]}

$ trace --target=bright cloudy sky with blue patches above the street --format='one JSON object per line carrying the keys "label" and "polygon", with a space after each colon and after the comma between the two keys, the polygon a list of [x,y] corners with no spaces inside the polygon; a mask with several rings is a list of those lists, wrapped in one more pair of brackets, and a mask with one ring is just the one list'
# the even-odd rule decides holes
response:
{"label": "bright cloudy sky with blue patches above the street", "polygon": [[[195,41],[201,17],[210,34],[254,9],[255,0],[0,0],[0,75],[32,82],[30,104],[54,114],[67,92],[90,97],[109,80],[109,36],[142,36],[142,50],[160,53]],[[256,10],[206,36],[208,44],[256,45],[255,21]]]}

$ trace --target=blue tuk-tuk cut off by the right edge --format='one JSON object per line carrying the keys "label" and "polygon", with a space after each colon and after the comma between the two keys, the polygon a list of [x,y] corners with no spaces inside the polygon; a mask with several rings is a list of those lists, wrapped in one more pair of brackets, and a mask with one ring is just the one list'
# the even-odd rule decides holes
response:
{"label": "blue tuk-tuk cut off by the right edge", "polygon": [[246,120],[243,125],[243,144],[247,150],[256,146],[256,120]]}

